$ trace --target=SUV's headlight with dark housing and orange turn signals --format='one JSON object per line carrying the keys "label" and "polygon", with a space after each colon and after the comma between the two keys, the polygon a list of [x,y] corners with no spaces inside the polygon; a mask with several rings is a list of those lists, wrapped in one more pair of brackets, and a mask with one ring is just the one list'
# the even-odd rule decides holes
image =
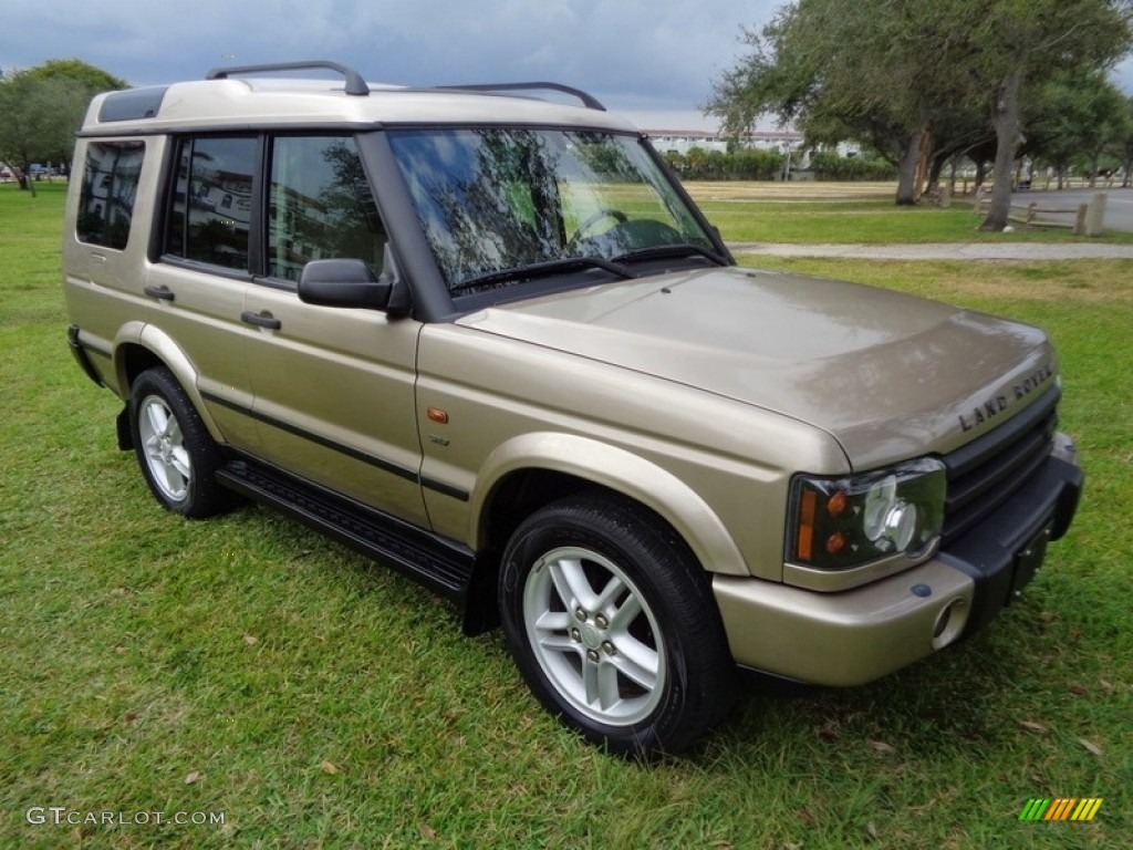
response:
{"label": "SUV's headlight with dark housing and orange turn signals", "polygon": [[785,560],[844,570],[927,552],[944,525],[944,464],[921,458],[893,469],[843,478],[795,476]]}

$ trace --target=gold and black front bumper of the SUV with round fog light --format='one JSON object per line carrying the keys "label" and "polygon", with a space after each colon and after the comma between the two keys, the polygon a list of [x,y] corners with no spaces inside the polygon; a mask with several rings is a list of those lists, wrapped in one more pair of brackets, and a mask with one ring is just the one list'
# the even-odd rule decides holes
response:
{"label": "gold and black front bumper of the SUV with round fog light", "polygon": [[1041,566],[1074,517],[1082,470],[1062,435],[997,511],[935,558],[842,593],[716,576],[713,592],[741,666],[850,686],[900,670],[979,631]]}

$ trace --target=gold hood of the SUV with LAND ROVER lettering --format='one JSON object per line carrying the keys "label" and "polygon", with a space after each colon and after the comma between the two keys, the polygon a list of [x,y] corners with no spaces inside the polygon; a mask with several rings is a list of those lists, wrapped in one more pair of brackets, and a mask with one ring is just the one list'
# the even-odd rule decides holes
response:
{"label": "gold hood of the SUV with LAND ROVER lettering", "polygon": [[740,269],[578,290],[460,324],[800,419],[834,435],[858,469],[962,445],[1037,398],[1056,368],[1029,325]]}

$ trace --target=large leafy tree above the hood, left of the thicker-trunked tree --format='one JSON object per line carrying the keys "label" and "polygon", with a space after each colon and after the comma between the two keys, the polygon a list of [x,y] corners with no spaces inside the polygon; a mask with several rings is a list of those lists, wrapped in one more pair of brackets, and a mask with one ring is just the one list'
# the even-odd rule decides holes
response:
{"label": "large leafy tree above the hood, left of the thicker-trunked tree", "polygon": [[932,113],[966,93],[937,49],[948,8],[947,0],[795,0],[760,33],[742,31],[751,53],[715,82],[706,111],[731,131],[770,112],[810,144],[868,143],[898,169],[896,203],[915,203]]}

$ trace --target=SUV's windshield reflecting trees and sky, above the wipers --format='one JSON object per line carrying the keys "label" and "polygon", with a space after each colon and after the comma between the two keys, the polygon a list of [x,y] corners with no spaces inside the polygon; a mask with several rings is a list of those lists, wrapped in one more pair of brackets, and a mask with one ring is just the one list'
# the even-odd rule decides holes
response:
{"label": "SUV's windshield reflecting trees and sky, above the wipers", "polygon": [[634,255],[680,254],[678,246],[719,260],[634,136],[517,128],[389,135],[452,292],[508,286],[560,264],[616,269]]}

